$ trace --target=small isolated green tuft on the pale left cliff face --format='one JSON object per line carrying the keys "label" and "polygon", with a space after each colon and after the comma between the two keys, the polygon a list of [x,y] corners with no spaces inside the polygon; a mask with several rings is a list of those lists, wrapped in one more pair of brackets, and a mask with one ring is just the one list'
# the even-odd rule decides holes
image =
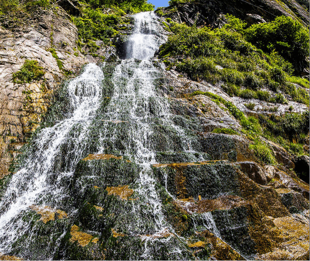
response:
{"label": "small isolated green tuft on the pale left cliff face", "polygon": [[43,67],[36,60],[25,60],[21,69],[13,73],[14,83],[31,83],[39,81],[45,74]]}

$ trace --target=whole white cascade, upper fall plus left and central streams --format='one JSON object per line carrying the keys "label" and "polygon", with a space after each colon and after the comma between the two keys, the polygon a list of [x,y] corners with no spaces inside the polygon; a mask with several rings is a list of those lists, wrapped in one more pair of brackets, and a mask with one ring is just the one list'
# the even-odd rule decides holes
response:
{"label": "whole white cascade, upper fall plus left and central streams", "polygon": [[[161,72],[149,58],[166,41],[162,33],[164,30],[153,12],[134,17],[135,29],[128,40],[126,59],[115,66],[110,79],[111,97],[104,97],[106,86],[103,81],[106,77],[102,68],[95,64],[86,65],[83,74],[67,87],[72,115],[38,132],[32,142],[34,149],[29,152],[24,167],[13,175],[3,196],[5,201],[0,203],[0,253],[10,253],[12,245],[26,233],[31,239],[29,221],[21,214],[29,211],[29,206],[62,207],[69,216],[76,215],[78,210],[68,206],[70,201],[63,203],[64,199],[70,198],[67,184],[74,183],[71,178],[77,163],[92,152],[98,155],[118,154],[140,168],[139,178],[134,182],[140,204],[135,201],[128,204],[133,214],[138,216],[137,213],[142,213],[141,217],[154,221],[145,225],[142,218],[137,217],[134,223],[123,224],[130,235],[141,237],[144,242],[139,259],[154,259],[152,245],[165,245],[173,240],[167,250],[171,255],[169,258],[186,257],[182,256],[187,251],[184,243],[180,243],[180,238],[175,239],[178,236],[166,222],[151,166],[158,163],[160,151],[193,154],[196,151],[192,148],[191,138],[174,124],[168,98],[159,95],[154,85]],[[103,100],[108,100],[104,109]],[[164,138],[166,142],[161,141]],[[91,174],[87,177],[94,178]],[[80,192],[85,189],[81,185]],[[206,229],[216,229],[211,215],[207,215],[205,220]],[[59,232],[54,252],[65,234],[65,228]],[[43,258],[52,259],[54,252],[43,254]],[[34,259],[33,254],[27,251],[19,254],[23,258]]]}

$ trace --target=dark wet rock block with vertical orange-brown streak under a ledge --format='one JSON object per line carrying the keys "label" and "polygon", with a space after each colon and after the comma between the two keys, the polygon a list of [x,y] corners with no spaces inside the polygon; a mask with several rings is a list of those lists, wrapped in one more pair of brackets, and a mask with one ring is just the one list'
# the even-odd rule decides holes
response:
{"label": "dark wet rock block with vertical orange-brown streak under a ledge", "polygon": [[[223,194],[239,194],[235,167],[222,162],[197,162],[153,165],[162,186],[180,199],[215,199]],[[167,177],[167,179],[166,179]]]}

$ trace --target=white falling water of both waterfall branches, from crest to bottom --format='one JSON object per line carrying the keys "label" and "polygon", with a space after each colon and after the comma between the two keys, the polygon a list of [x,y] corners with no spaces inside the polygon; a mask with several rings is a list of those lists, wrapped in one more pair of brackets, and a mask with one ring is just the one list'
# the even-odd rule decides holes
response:
{"label": "white falling water of both waterfall branches, from crest to bottom", "polygon": [[[142,167],[137,191],[139,195],[147,198],[156,222],[157,233],[160,234],[166,231],[173,232],[173,229],[165,222],[161,201],[155,189],[156,181],[151,174],[151,164],[157,163],[156,150],[152,143],[154,120],[160,120],[161,124],[170,126],[178,134],[182,146],[180,151],[191,151],[192,148],[191,140],[187,140],[183,130],[175,126],[171,120],[168,99],[158,95],[153,84],[160,72],[149,58],[152,58],[159,46],[166,41],[161,24],[153,12],[139,13],[134,17],[135,29],[128,40],[126,59],[114,69],[114,94],[105,114],[101,116],[105,125],[104,131],[98,133],[97,153],[105,153],[109,146],[115,146],[110,149],[117,150],[116,144],[124,143],[125,149],[121,154]],[[62,176],[72,175],[77,162],[82,159],[89,126],[102,102],[103,80],[104,74],[99,66],[86,65],[83,74],[68,85],[71,106],[74,109],[72,116],[53,127],[42,129],[34,141],[40,149],[30,154],[24,167],[13,175],[3,196],[5,201],[0,203],[0,253],[9,253],[12,243],[22,235],[19,228],[28,227],[19,215],[22,211],[33,204],[48,205],[51,196],[53,207],[57,207],[56,202],[64,196],[61,193],[62,187],[57,182],[49,182],[49,177],[56,175],[57,179],[61,179]],[[128,122],[127,143],[119,138],[117,130],[111,128],[112,122]],[[79,135],[73,139],[74,154],[70,154],[73,156],[69,159],[69,167],[65,172],[57,172],[56,158],[68,139],[72,140],[70,133],[76,129],[79,129]],[[207,219],[212,221],[210,216]],[[211,228],[213,224],[206,226]],[[144,240],[145,252],[141,258],[151,259],[146,245],[148,240],[155,239],[145,237]],[[171,252],[180,250],[171,249]]]}

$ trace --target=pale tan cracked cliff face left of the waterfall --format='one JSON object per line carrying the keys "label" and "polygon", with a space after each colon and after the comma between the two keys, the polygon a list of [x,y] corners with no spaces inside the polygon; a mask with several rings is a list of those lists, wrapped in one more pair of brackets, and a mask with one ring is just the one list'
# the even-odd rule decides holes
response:
{"label": "pale tan cracked cliff face left of the waterfall", "polygon": [[[79,9],[67,0],[51,9],[32,7],[19,20],[7,13],[0,18],[0,176],[7,175],[16,150],[39,126],[54,90],[88,62],[109,58],[115,52],[97,42],[96,57],[89,48],[78,48],[78,29],[68,14]],[[77,3],[77,1],[75,1]],[[54,51],[53,51],[54,49]],[[100,57],[99,57],[100,56]],[[44,68],[42,80],[30,84],[13,82],[13,73],[28,59]],[[60,67],[59,67],[59,64]]]}

